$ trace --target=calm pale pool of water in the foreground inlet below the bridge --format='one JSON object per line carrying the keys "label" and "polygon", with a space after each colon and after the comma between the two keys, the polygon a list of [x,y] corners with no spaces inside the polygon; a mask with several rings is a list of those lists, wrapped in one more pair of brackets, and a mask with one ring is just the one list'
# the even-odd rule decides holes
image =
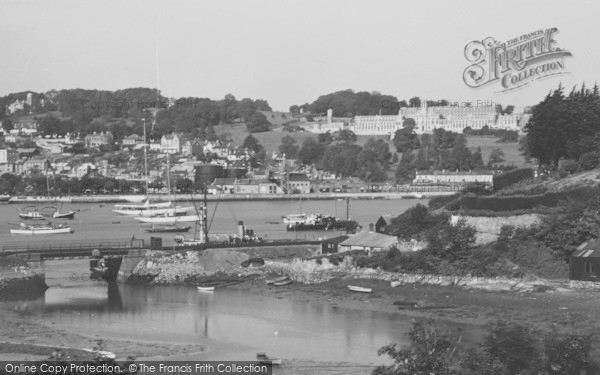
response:
{"label": "calm pale pool of water in the foreground inlet below the bridge", "polygon": [[263,351],[284,358],[382,363],[386,359],[377,350],[406,343],[412,325],[399,314],[256,296],[239,287],[202,293],[190,286],[70,282],[68,267],[82,265],[65,263],[47,265],[50,289],[43,299],[18,304],[23,314],[91,337],[213,348],[192,359],[252,360],[251,353]]}

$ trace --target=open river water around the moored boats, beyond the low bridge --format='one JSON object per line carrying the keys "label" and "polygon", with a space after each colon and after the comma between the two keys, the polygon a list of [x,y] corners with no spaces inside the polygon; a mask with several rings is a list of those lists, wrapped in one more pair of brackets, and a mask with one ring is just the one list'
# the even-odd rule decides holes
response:
{"label": "open river water around the moored boats, beyond the low bridge", "polygon": [[[417,202],[427,204],[427,200],[411,199],[356,199],[351,200],[349,217],[359,222],[364,228],[369,223],[375,223],[379,216],[397,216],[408,207]],[[192,203],[180,202],[180,205],[192,205]],[[61,241],[106,241],[121,240],[129,241],[131,236],[135,238],[150,240],[150,237],[162,237],[163,243],[170,243],[174,234],[156,233],[150,234],[144,230],[148,224],[141,224],[129,216],[120,216],[111,210],[114,204],[65,204],[63,211],[76,211],[73,220],[56,220],[57,223],[68,223],[74,229],[73,234],[61,235],[11,235],[10,227],[18,225],[20,210],[29,209],[31,206],[18,204],[0,205],[0,243],[25,243],[25,242],[61,242]],[[43,209],[39,205],[38,209]],[[346,202],[343,200],[318,200],[318,201],[264,201],[264,202],[209,202],[208,222],[211,234],[233,234],[237,233],[237,224],[243,221],[248,229],[266,240],[269,239],[319,239],[331,238],[340,232],[302,231],[286,232],[282,216],[290,213],[322,213],[346,217]],[[34,221],[29,221],[33,223]],[[192,224],[193,226],[193,224]],[[186,236],[194,236],[194,227]]]}

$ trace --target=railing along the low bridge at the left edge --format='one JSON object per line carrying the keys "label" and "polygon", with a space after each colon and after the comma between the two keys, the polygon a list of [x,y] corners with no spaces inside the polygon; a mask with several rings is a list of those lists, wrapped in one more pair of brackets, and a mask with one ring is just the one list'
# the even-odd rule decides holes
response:
{"label": "railing along the low bridge at the left edge", "polygon": [[10,243],[5,242],[0,245],[0,251],[11,252],[11,251],[22,251],[22,250],[41,250],[41,251],[53,251],[53,250],[102,250],[102,249],[142,249],[145,248],[145,241],[133,240],[133,241],[29,241]]}

